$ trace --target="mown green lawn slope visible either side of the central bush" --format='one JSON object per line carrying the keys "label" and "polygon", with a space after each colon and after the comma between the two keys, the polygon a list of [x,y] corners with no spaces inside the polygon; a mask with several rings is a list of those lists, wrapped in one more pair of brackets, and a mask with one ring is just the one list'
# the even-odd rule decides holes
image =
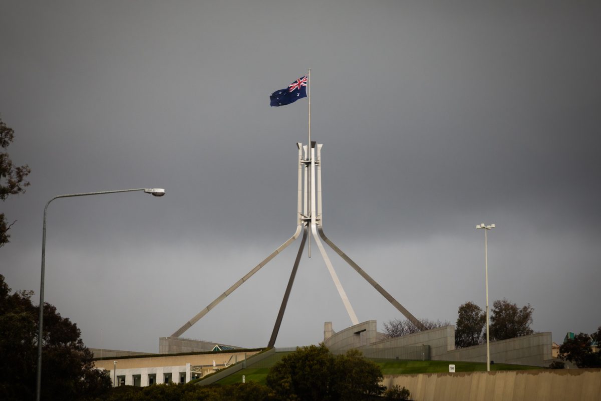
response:
{"label": "mown green lawn slope visible either side of the central bush", "polygon": [[[273,358],[275,364],[280,358]],[[383,375],[407,375],[413,373],[444,373],[449,371],[449,365],[455,365],[455,372],[484,372],[486,370],[485,363],[478,362],[454,362],[454,361],[404,361],[404,360],[385,360],[374,359],[377,366],[382,369]],[[537,366],[523,365],[508,365],[508,364],[493,364],[490,365],[490,370],[529,370],[543,369]],[[242,375],[245,376],[247,382],[254,381],[260,384],[266,384],[267,373],[269,367],[263,364],[263,367],[255,367],[242,369],[240,372],[234,373],[227,378],[218,381],[218,384],[234,384],[242,383]]]}

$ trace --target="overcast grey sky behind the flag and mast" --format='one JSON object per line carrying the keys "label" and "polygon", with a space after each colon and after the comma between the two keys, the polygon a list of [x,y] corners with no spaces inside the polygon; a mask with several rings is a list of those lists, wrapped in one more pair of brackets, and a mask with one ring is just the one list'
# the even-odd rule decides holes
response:
{"label": "overcast grey sky behind the flag and mast", "polygon": [[[601,325],[601,3],[0,3],[0,117],[31,186],[2,212],[0,274],[40,286],[88,347],[158,352],[296,229],[311,68],[324,231],[415,316],[489,297],[561,342]],[[294,242],[182,337],[265,346]],[[359,321],[400,313],[328,254]],[[350,319],[314,245],[276,346]]]}

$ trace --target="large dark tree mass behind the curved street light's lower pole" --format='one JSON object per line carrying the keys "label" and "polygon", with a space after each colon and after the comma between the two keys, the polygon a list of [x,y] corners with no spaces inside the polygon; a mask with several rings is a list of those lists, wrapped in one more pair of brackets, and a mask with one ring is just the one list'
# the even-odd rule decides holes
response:
{"label": "large dark tree mass behind the curved street light's lower pole", "polygon": [[[31,400],[37,377],[38,308],[32,292],[11,290],[0,275],[0,399]],[[43,400],[81,400],[111,387],[108,375],[94,369],[81,332],[56,308],[44,304]]]}

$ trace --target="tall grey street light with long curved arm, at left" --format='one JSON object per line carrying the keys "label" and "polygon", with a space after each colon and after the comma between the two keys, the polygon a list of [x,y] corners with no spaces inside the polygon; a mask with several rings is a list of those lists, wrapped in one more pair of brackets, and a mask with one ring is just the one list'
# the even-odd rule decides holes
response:
{"label": "tall grey street light with long curved arm, at left", "polygon": [[87,195],[102,195],[102,194],[116,194],[117,192],[134,192],[144,191],[147,194],[152,194],[155,197],[162,197],[165,195],[165,189],[163,188],[136,188],[136,189],[119,189],[118,191],[100,191],[100,192],[84,192],[82,194],[67,194],[57,195],[50,199],[44,207],[44,224],[41,235],[41,279],[40,279],[40,317],[38,319],[38,366],[37,366],[37,383],[35,387],[35,399],[40,401],[41,395],[41,343],[43,338],[43,323],[44,323],[44,265],[46,263],[46,212],[50,202],[57,198],[70,198],[70,197],[84,197]]}

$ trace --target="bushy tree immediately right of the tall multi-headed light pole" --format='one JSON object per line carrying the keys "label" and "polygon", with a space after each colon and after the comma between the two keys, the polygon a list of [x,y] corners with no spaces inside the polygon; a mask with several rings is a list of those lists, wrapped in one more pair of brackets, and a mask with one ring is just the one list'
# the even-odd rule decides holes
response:
{"label": "bushy tree immediately right of the tall multi-headed light pole", "polygon": [[490,314],[490,339],[507,340],[534,333],[530,328],[533,311],[530,304],[518,308],[505,298],[495,301]]}

